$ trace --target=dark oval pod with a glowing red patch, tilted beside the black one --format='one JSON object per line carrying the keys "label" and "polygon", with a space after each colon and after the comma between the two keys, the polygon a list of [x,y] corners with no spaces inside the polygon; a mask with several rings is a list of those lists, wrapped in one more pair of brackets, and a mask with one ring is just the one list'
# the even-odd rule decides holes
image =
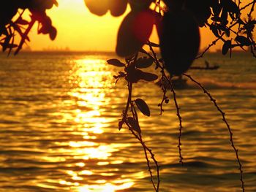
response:
{"label": "dark oval pod with a glowing red patch, tilted beside the black one", "polygon": [[151,35],[154,14],[146,9],[141,12],[129,12],[118,30],[116,53],[128,57],[137,53]]}

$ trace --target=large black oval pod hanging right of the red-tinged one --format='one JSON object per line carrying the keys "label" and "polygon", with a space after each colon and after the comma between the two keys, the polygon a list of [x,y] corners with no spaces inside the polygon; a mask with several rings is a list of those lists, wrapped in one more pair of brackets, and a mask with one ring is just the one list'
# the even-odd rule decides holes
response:
{"label": "large black oval pod hanging right of the red-tinged one", "polygon": [[170,74],[180,75],[194,61],[200,34],[197,23],[189,12],[166,12],[159,33],[162,59]]}

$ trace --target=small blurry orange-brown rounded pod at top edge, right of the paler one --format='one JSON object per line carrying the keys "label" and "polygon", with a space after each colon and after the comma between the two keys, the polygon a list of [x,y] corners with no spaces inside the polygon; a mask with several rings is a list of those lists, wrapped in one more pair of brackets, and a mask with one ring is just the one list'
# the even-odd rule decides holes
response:
{"label": "small blurry orange-brown rounded pod at top edge, right of the paler one", "polygon": [[109,0],[110,13],[114,17],[123,15],[127,9],[128,0]]}

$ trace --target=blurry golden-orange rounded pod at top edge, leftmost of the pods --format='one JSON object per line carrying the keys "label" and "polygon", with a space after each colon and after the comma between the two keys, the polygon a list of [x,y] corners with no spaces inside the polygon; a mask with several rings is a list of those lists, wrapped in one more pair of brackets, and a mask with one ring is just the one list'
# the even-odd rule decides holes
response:
{"label": "blurry golden-orange rounded pod at top edge, leftmost of the pods", "polygon": [[89,11],[95,15],[105,15],[108,12],[109,2],[108,0],[84,0],[86,7],[88,7]]}

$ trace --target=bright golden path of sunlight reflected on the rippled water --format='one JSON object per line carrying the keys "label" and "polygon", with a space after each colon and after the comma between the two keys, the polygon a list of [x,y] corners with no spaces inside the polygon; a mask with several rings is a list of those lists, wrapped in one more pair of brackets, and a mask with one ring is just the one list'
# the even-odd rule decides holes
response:
{"label": "bright golden path of sunlight reflected on the rippled water", "polygon": [[[111,174],[109,172],[101,174],[102,180],[95,180],[93,184],[85,184],[86,176],[94,174],[93,170],[86,169],[86,161],[97,160],[97,166],[122,164],[123,161],[110,161],[108,158],[118,148],[126,146],[100,142],[100,137],[105,133],[105,127],[110,121],[109,118],[102,117],[102,109],[110,104],[106,93],[110,91],[110,83],[113,80],[113,74],[105,70],[108,67],[105,60],[84,58],[73,61],[72,65],[74,65],[74,69],[70,72],[69,83],[74,84],[74,89],[69,92],[69,96],[75,98],[78,109],[74,111],[75,115],[71,117],[68,115],[66,118],[72,118],[75,125],[80,126],[79,134],[83,135],[84,141],[56,142],[56,145],[69,145],[69,150],[64,150],[61,153],[73,155],[75,159],[83,159],[76,166],[84,169],[79,172],[67,170],[66,174],[75,182],[59,180],[59,184],[78,192],[111,192],[130,188],[134,182],[128,178],[105,180],[104,176]],[[99,142],[94,142],[95,139]]]}

